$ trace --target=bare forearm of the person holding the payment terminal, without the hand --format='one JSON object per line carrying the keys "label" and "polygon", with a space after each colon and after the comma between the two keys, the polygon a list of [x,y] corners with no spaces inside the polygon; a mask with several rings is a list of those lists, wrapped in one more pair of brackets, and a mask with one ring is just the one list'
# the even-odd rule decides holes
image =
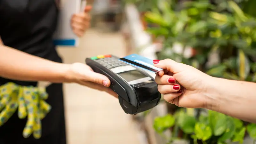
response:
{"label": "bare forearm of the person holding the payment terminal, without the hand", "polygon": [[52,62],[0,44],[0,76],[22,81],[67,82],[68,65]]}

